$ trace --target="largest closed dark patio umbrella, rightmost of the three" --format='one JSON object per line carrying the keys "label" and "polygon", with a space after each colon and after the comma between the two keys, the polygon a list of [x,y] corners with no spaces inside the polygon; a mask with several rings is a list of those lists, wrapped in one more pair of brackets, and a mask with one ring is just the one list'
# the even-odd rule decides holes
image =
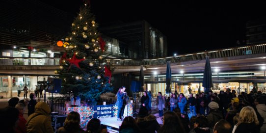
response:
{"label": "largest closed dark patio umbrella, rightmost of the three", "polygon": [[206,56],[206,63],[203,73],[203,83],[202,86],[204,87],[204,92],[209,93],[211,87],[213,87],[213,78],[212,78],[212,68],[210,64],[209,56]]}

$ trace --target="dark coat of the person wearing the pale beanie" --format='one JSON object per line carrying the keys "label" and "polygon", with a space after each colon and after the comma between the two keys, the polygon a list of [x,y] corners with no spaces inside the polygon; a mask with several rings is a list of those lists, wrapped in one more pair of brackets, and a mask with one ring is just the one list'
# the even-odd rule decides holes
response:
{"label": "dark coat of the person wearing the pale beanie", "polygon": [[219,110],[211,110],[210,114],[207,116],[207,119],[209,126],[213,128],[216,122],[218,122],[220,119],[223,119],[223,115]]}

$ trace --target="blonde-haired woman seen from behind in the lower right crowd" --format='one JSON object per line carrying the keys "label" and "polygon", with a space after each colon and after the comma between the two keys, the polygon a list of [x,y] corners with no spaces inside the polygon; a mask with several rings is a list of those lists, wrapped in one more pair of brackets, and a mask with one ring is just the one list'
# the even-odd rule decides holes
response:
{"label": "blonde-haired woman seen from behind in the lower right crowd", "polygon": [[232,133],[260,133],[259,120],[251,106],[245,106],[239,113],[239,122]]}

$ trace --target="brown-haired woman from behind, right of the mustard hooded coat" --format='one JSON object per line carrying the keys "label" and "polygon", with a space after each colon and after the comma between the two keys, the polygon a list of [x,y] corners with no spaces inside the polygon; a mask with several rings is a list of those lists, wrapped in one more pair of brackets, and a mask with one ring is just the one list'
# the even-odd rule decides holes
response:
{"label": "brown-haired woman from behind, right of the mustard hooded coat", "polygon": [[72,111],[67,115],[64,126],[58,129],[58,133],[84,133],[80,129],[80,114]]}

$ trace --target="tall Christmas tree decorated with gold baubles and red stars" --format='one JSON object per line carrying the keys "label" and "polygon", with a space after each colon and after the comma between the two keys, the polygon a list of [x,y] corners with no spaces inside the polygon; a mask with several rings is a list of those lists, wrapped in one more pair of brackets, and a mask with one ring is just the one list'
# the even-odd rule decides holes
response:
{"label": "tall Christmas tree decorated with gold baubles and red stars", "polygon": [[100,95],[112,90],[111,72],[103,56],[106,45],[97,31],[95,17],[86,4],[72,23],[71,33],[58,41],[66,51],[60,59],[59,74],[62,79],[61,94],[79,96],[95,105]]}

